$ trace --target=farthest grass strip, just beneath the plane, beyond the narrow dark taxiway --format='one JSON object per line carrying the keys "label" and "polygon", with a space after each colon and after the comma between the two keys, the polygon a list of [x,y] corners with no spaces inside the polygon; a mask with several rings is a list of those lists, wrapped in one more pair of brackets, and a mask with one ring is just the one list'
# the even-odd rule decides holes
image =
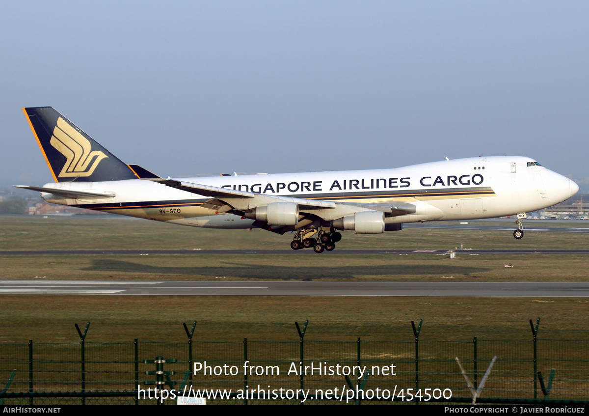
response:
{"label": "farthest grass strip, just beneath the plane, beyond the narrow dark taxiway", "polygon": [[[485,224],[477,222],[477,224]],[[497,223],[493,223],[497,225]],[[505,223],[505,228],[515,229]],[[526,227],[589,227],[585,223],[527,222]],[[521,240],[512,231],[406,228],[399,232],[362,235],[343,232],[337,249],[585,249],[589,235],[528,231]],[[285,250],[289,234],[264,230],[211,230],[132,219],[123,216],[29,217],[0,216],[0,250]],[[327,255],[327,253],[325,253]]]}

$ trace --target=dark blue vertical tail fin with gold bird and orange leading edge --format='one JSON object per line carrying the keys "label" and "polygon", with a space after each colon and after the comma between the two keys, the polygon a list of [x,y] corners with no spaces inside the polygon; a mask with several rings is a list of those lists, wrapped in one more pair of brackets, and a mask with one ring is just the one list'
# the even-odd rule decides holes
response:
{"label": "dark blue vertical tail fin with gold bird and orange leading edge", "polygon": [[137,179],[127,164],[55,108],[22,110],[56,182]]}

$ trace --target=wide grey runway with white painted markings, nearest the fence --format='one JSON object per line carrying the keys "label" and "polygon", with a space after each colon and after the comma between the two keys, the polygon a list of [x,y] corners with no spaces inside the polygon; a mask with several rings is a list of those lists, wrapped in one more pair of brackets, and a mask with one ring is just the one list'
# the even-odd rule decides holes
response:
{"label": "wide grey runway with white painted markings, nearest the fence", "polygon": [[589,282],[139,282],[0,280],[0,295],[588,298]]}

